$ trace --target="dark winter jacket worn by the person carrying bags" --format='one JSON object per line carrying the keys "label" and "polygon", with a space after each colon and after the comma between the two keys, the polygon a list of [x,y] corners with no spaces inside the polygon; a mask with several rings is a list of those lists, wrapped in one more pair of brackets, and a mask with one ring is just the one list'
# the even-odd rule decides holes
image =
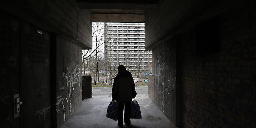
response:
{"label": "dark winter jacket worn by the person carrying bags", "polygon": [[112,88],[112,99],[117,102],[129,102],[137,95],[132,75],[129,71],[118,72]]}

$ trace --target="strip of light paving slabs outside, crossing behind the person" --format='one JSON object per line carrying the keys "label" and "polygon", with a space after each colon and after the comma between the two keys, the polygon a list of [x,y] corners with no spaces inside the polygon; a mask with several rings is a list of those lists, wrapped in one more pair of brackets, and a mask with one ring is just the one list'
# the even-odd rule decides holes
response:
{"label": "strip of light paving slabs outside, crossing behind the person", "polygon": [[[138,86],[135,87],[138,96],[146,95],[148,96],[148,86]],[[93,97],[111,97],[112,87],[93,87],[92,96]]]}

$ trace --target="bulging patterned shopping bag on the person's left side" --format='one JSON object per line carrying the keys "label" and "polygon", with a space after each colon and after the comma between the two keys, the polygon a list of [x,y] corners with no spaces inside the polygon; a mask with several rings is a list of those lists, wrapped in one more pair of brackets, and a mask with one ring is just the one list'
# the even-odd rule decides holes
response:
{"label": "bulging patterned shopping bag on the person's left side", "polygon": [[107,109],[107,118],[118,120],[118,102],[111,101],[109,102],[108,109]]}

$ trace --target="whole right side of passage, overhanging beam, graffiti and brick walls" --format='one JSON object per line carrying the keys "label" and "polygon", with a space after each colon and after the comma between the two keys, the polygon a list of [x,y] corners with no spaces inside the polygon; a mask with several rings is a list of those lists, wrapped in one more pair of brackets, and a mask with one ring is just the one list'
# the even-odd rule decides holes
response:
{"label": "whole right side of passage, overhanging beam, graffiti and brick walls", "polygon": [[[253,0],[160,0],[156,14],[150,13],[152,10],[146,11],[145,26],[153,24],[152,28],[146,27],[145,30],[145,46],[147,49],[152,48],[154,60],[153,100],[173,123],[176,112],[176,122],[181,119],[183,127],[256,126],[255,5]],[[219,36],[220,41],[213,38],[216,43],[207,42],[212,41],[205,40],[209,35],[199,39],[198,26],[216,16],[220,20],[219,25],[216,25],[220,28],[219,32],[217,29],[217,33],[214,33],[204,28],[199,33],[201,37],[204,33],[212,33],[212,37]],[[170,41],[176,34],[179,37]],[[180,45],[181,50],[177,47]],[[174,51],[176,54],[172,56],[170,53]],[[176,60],[176,66],[175,62],[171,63],[172,58]],[[179,61],[181,67],[177,66]],[[176,76],[168,74],[171,71],[176,72]],[[176,82],[173,80],[175,83],[171,83],[176,88],[169,88],[170,78],[176,78]],[[181,92],[177,91],[178,81],[181,81]],[[167,91],[171,94],[166,95]],[[177,98],[178,93],[182,93],[181,99]],[[176,105],[173,104],[174,99]],[[182,107],[177,107],[178,101]],[[165,110],[166,106],[169,106],[169,110]],[[177,118],[179,115],[181,118]]]}

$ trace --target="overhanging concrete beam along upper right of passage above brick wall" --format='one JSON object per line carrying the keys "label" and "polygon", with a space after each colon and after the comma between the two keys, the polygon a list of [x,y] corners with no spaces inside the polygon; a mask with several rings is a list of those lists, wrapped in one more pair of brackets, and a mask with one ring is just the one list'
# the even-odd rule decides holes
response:
{"label": "overhanging concrete beam along upper right of passage above brick wall", "polygon": [[[145,12],[145,28],[147,25],[154,25],[153,28],[145,30],[145,49],[153,49],[174,34],[188,31],[207,19],[232,10],[238,5],[238,1],[231,0],[187,0],[187,2],[161,0],[157,6],[157,12],[154,10]],[[157,35],[155,35],[156,33]],[[151,39],[149,40],[149,38]]]}

